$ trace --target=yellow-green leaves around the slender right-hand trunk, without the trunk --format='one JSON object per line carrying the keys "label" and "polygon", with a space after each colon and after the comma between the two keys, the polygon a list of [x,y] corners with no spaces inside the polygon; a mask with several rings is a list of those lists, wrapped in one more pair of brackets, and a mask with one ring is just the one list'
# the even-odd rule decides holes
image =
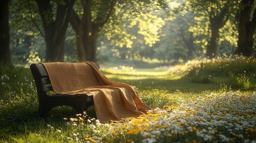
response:
{"label": "yellow-green leaves around the slender right-hand trunk, without the trunk", "polygon": [[[240,1],[186,1],[186,6],[189,10],[195,14],[195,25],[189,28],[189,31],[193,33],[197,39],[195,43],[200,45],[203,52],[206,53],[206,47],[209,45],[209,39],[211,35],[211,28],[209,17],[214,17],[220,14],[224,8],[229,9],[226,17],[229,18],[223,27],[219,30],[220,38],[218,39],[218,45],[221,45],[223,41],[228,41],[230,46],[237,46],[238,41],[238,29],[236,27],[235,15],[238,11],[238,5]],[[212,15],[213,14],[213,15]],[[232,28],[231,28],[232,27]]]}

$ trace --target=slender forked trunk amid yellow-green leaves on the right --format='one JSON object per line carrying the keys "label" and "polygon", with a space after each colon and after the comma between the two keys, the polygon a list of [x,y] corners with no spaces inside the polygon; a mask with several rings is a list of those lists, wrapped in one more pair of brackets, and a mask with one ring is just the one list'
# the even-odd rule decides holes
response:
{"label": "slender forked trunk amid yellow-green leaves on the right", "polygon": [[215,14],[213,10],[209,14],[211,38],[206,49],[206,57],[214,58],[217,56],[218,38],[220,36],[218,32],[229,19],[228,12],[229,7],[226,4],[226,6],[223,8],[223,10],[221,10],[219,14]]}

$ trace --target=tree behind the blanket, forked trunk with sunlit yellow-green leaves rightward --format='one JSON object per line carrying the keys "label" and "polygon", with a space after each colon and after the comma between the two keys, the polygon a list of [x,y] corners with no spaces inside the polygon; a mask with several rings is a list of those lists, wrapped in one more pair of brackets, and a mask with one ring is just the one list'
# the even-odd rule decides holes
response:
{"label": "tree behind the blanket, forked trunk with sunlit yellow-green leaves rightward", "polygon": [[[106,35],[115,46],[131,48],[132,40],[136,36],[127,32],[133,26],[138,26],[137,33],[144,36],[146,44],[156,42],[159,38],[159,27],[156,15],[152,16],[154,1],[78,1],[72,11],[70,23],[76,31],[76,43],[79,60],[96,61],[96,41],[98,36]],[[82,5],[82,8],[78,6]],[[149,12],[151,11],[151,12]],[[82,13],[82,15],[81,15]],[[146,15],[149,15],[146,17]],[[143,19],[146,19],[143,21]],[[155,21],[154,21],[155,20]],[[140,21],[140,22],[139,22]],[[160,20],[161,21],[161,20]],[[152,24],[152,25],[149,25]],[[154,23],[158,23],[155,24]],[[152,27],[152,29],[149,28]],[[156,33],[150,33],[156,30]]]}

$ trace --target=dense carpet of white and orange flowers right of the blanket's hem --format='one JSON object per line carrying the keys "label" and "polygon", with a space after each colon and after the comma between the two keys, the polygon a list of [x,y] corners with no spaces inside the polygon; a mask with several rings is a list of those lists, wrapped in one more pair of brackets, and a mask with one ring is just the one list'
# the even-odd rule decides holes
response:
{"label": "dense carpet of white and orange flowers right of the blanket's hem", "polygon": [[249,142],[256,139],[256,93],[210,94],[180,106],[155,108],[112,129],[130,142]]}

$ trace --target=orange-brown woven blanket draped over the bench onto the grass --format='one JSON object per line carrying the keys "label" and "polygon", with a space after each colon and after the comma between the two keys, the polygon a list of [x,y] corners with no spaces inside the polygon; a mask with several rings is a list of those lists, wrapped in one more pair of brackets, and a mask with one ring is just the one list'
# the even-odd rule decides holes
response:
{"label": "orange-brown woven blanket draped over the bench onto the grass", "polygon": [[96,116],[101,123],[137,117],[150,110],[134,88],[107,79],[92,62],[42,64],[56,94],[91,93]]}

